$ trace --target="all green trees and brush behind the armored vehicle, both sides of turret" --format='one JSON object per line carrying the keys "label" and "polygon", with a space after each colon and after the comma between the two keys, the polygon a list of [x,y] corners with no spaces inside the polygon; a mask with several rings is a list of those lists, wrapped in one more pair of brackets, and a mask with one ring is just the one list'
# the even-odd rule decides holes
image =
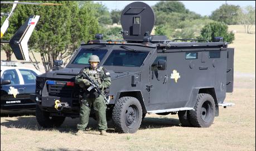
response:
{"label": "all green trees and brush behind the armored vehicle, both sides of turret", "polygon": [[[31,1],[43,2],[43,1]],[[44,1],[45,2],[45,1]],[[92,1],[47,1],[61,3],[62,6],[34,6],[18,4],[15,13],[9,19],[9,28],[2,40],[9,40],[28,16],[40,16],[36,29],[28,43],[30,53],[39,52],[45,71],[54,66],[54,61],[69,59],[81,42],[94,39],[96,33],[103,33],[104,39],[122,39],[120,27],[109,27],[109,24],[120,24],[122,10],[112,10],[101,3]],[[1,12],[11,10],[11,4],[1,4]],[[208,39],[214,36],[224,37],[232,42],[234,34],[228,32],[228,24],[243,24],[245,31],[250,32],[255,24],[255,7],[240,8],[223,4],[212,12],[211,16],[201,16],[186,9],[182,2],[160,1],[153,7],[156,14],[155,33],[173,38]],[[1,25],[5,17],[1,19]],[[1,51],[11,61],[12,50],[8,44],[1,44]],[[31,58],[35,60],[37,58]]]}

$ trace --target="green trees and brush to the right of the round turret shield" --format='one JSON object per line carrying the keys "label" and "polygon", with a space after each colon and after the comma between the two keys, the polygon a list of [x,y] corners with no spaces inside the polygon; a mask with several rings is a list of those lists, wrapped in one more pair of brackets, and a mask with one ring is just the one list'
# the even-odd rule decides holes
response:
{"label": "green trees and brush to the right of the round turret shield", "polygon": [[201,16],[185,8],[178,1],[161,1],[153,6],[156,13],[156,34],[165,34],[168,38],[207,39],[213,41],[215,36],[224,37],[232,43],[234,33],[228,32],[228,25],[242,24],[245,33],[255,25],[255,7],[241,8],[223,4],[210,16]]}

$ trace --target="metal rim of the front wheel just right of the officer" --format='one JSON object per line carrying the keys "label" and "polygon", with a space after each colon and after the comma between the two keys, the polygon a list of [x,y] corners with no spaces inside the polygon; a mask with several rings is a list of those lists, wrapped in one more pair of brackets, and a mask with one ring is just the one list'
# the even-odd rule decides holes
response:
{"label": "metal rim of the front wheel just right of the officer", "polygon": [[125,124],[128,128],[134,128],[138,122],[138,108],[136,105],[130,105],[125,111]]}

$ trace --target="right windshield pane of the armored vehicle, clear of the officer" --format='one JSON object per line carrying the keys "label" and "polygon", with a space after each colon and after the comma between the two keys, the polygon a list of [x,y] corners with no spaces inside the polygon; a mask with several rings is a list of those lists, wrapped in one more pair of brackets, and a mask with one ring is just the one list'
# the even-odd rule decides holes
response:
{"label": "right windshield pane of the armored vehicle, clear of the officer", "polygon": [[113,50],[105,61],[105,66],[140,67],[148,52]]}

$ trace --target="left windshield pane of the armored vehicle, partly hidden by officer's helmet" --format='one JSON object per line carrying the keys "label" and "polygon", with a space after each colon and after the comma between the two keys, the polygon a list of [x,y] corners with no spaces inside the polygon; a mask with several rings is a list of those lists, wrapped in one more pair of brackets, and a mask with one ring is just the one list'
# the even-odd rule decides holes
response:
{"label": "left windshield pane of the armored vehicle, partly hidden by officer's helmet", "polygon": [[89,57],[91,55],[97,55],[102,61],[105,54],[108,52],[107,49],[81,49],[78,55],[75,57],[72,64],[88,64],[89,65]]}

